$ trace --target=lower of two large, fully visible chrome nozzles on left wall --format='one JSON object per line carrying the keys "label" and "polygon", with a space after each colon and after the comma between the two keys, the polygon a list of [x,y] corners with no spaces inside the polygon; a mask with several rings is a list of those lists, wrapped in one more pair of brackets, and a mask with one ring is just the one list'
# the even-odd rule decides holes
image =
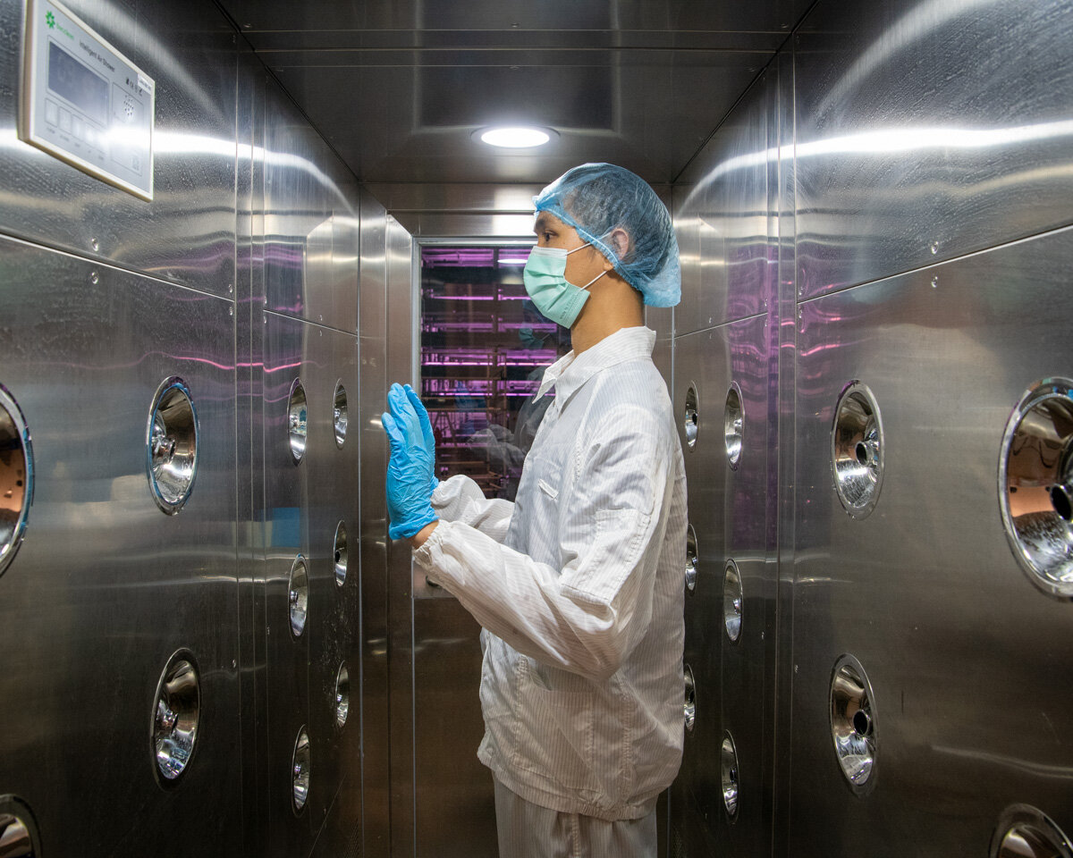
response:
{"label": "lower of two large, fully visible chrome nozzles on left wall", "polygon": [[165,782],[175,781],[187,770],[200,718],[197,668],[190,652],[178,650],[160,675],[152,704],[152,753]]}

